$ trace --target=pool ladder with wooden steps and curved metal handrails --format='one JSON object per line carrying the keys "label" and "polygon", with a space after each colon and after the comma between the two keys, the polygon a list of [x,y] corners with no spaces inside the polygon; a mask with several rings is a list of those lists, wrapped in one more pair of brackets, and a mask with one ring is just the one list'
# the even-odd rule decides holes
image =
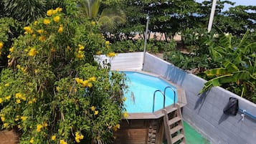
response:
{"label": "pool ladder with wooden steps and curved metal handrails", "polygon": [[[170,115],[167,113],[165,109],[166,102],[166,89],[170,88],[174,92],[174,111],[170,112]],[[153,112],[155,107],[155,97],[156,92],[161,92],[163,95],[163,124],[164,130],[166,133],[166,140],[168,144],[186,144],[185,135],[184,135],[184,124],[181,115],[181,107],[179,104],[175,104],[176,91],[173,87],[165,87],[163,92],[161,90],[156,90],[153,93]]]}

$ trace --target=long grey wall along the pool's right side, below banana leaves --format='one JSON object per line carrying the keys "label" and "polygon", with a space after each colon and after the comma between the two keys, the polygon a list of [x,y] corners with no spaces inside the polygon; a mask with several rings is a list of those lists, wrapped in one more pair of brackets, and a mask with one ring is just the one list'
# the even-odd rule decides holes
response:
{"label": "long grey wall along the pool's right side, below banana leaves", "polygon": [[213,87],[208,92],[198,95],[205,80],[148,53],[146,53],[143,69],[166,77],[166,80],[184,88],[187,100],[187,105],[183,109],[184,120],[194,126],[212,144],[256,143],[256,120],[248,116],[242,120],[241,112],[236,116],[223,114],[229,97],[236,97],[241,109],[256,115],[256,105],[252,102],[221,87]]}

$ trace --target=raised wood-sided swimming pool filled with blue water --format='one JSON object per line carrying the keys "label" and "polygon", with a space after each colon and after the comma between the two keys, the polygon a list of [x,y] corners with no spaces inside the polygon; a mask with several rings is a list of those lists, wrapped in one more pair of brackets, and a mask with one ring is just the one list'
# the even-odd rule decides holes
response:
{"label": "raised wood-sided swimming pool filled with blue water", "polygon": [[[179,107],[186,105],[185,92],[178,85],[168,82],[158,75],[148,72],[125,71],[128,78],[128,93],[125,94],[125,108],[128,112],[127,119],[123,118],[120,129],[114,133],[115,144],[162,144],[163,128],[163,95],[165,87],[171,87],[176,92],[175,103]],[[174,107],[174,92],[166,89],[165,109],[170,117],[176,115]],[[156,92],[159,90],[161,92]],[[154,112],[153,94],[156,92]],[[176,106],[177,106],[176,105]]]}

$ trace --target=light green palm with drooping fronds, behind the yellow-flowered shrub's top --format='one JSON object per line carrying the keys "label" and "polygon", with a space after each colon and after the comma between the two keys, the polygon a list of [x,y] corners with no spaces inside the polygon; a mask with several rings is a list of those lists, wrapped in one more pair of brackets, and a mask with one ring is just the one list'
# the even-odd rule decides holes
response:
{"label": "light green palm with drooping fronds, behind the yellow-flowered shrub's top", "polygon": [[125,14],[120,9],[103,9],[100,16],[98,16],[100,2],[100,0],[79,0],[78,5],[85,18],[92,19],[100,24],[100,29],[103,32],[112,32],[119,24],[125,23]]}

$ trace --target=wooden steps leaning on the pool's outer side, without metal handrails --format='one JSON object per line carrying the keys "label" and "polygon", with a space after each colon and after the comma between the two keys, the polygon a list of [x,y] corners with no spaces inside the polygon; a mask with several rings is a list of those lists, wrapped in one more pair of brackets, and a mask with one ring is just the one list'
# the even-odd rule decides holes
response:
{"label": "wooden steps leaning on the pool's outer side, without metal handrails", "polygon": [[174,111],[169,115],[163,109],[163,124],[168,144],[186,144],[184,135],[184,125],[181,115],[181,107],[176,104]]}

